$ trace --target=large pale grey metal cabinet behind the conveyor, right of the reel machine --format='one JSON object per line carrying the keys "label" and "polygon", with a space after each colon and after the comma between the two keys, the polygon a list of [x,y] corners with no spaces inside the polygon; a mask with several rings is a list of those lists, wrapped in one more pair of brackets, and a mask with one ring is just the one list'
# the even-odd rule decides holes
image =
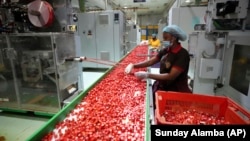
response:
{"label": "large pale grey metal cabinet behind the conveyor, right of the reel machine", "polygon": [[[126,54],[125,16],[121,11],[79,13],[78,27],[83,56],[117,62]],[[83,66],[110,67],[87,62],[83,62]]]}

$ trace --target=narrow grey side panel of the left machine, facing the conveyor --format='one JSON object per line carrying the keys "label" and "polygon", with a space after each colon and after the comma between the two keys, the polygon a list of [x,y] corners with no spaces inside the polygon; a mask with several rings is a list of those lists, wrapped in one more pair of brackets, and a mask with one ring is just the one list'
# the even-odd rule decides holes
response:
{"label": "narrow grey side panel of the left machine, facing the conveyor", "polygon": [[75,84],[74,87],[77,88],[78,63],[64,62],[65,58],[76,56],[75,40],[73,34],[57,34],[54,35],[54,41],[56,45],[54,49],[57,57],[60,101],[63,101],[72,94],[69,94],[66,88],[72,84]]}

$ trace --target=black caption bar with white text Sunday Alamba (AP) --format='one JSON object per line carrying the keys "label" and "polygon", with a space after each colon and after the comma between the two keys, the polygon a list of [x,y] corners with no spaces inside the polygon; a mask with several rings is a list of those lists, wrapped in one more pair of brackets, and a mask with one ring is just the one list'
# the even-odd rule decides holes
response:
{"label": "black caption bar with white text Sunday Alamba (AP)", "polygon": [[151,139],[250,141],[250,125],[151,125]]}

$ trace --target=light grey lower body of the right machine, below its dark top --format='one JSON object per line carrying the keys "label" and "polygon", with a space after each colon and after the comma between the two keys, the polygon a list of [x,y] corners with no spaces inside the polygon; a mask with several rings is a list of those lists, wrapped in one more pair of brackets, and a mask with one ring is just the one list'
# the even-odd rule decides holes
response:
{"label": "light grey lower body of the right machine, below its dark top", "polygon": [[250,108],[249,31],[189,35],[194,93],[229,96]]}

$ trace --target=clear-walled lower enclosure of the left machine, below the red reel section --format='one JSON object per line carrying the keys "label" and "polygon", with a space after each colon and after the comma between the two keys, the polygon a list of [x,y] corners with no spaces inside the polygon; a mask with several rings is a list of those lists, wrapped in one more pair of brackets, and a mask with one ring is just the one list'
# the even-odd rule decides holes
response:
{"label": "clear-walled lower enclosure of the left machine, below the red reel section", "polygon": [[6,62],[4,65],[13,62],[5,66],[10,66],[7,70],[13,72],[15,85],[12,85],[17,87],[8,94],[20,99],[18,108],[56,113],[63,100],[78,90],[78,63],[64,61],[76,56],[74,36],[67,33],[11,34],[6,36],[10,41],[8,48],[3,48],[6,43],[0,41],[3,44],[1,54],[3,49],[8,51],[6,61],[1,62]]}

